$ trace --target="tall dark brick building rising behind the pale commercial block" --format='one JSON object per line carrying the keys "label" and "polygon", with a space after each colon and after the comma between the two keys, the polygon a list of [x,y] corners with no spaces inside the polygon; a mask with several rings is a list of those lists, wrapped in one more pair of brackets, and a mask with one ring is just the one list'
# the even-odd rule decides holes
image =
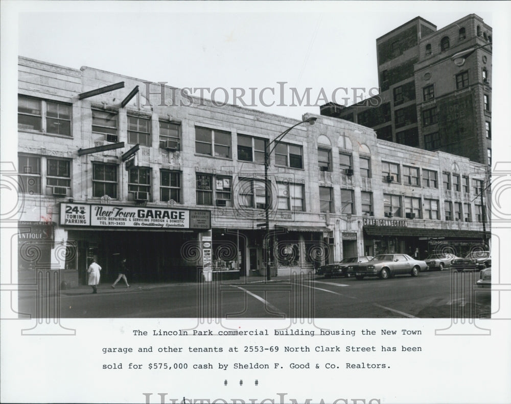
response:
{"label": "tall dark brick building rising behind the pale commercial block", "polygon": [[376,40],[381,93],[349,107],[328,103],[321,115],[491,166],[491,43],[492,28],[475,14],[440,30],[416,17]]}

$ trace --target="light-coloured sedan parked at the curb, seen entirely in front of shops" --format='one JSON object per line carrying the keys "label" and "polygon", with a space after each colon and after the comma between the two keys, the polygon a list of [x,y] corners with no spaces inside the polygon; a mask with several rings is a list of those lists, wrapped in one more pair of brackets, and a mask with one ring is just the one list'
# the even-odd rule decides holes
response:
{"label": "light-coloured sedan parked at the curb, seen entirely in front of shops", "polygon": [[424,261],[411,258],[406,254],[380,254],[369,262],[352,265],[348,268],[349,274],[354,274],[357,280],[364,276],[379,276],[380,279],[401,274],[419,275],[428,265]]}

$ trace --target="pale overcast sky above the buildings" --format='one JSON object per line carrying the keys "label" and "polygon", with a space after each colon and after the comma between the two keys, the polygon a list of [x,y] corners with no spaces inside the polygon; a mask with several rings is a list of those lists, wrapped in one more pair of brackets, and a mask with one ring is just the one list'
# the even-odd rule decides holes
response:
{"label": "pale overcast sky above the buildings", "polygon": [[[319,108],[277,106],[282,93],[291,104],[291,87],[300,96],[311,87],[312,105],[318,97],[323,104],[321,89],[331,100],[335,88],[349,88],[351,104],[353,87],[364,88],[357,90],[364,98],[378,87],[376,38],[388,31],[416,16],[440,29],[470,13],[492,26],[494,8],[487,2],[18,3],[21,56],[179,88],[225,88],[230,103],[232,88],[240,87],[251,104],[253,87],[256,109],[293,118]],[[284,92],[277,82],[286,82]],[[265,90],[261,101],[265,87],[275,95]],[[225,99],[223,90],[215,95]]]}

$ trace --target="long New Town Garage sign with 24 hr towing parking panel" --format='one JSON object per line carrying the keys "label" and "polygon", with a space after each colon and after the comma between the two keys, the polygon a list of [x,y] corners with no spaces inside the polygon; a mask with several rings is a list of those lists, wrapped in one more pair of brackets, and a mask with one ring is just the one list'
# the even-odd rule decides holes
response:
{"label": "long New Town Garage sign with 24 hr towing parking panel", "polygon": [[60,224],[139,229],[211,229],[211,212],[134,206],[60,204]]}

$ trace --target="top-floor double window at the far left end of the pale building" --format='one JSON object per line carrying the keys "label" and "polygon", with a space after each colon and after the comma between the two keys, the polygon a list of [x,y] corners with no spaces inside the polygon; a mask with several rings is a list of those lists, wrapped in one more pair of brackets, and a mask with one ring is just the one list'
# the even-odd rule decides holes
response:
{"label": "top-floor double window at the far left end of the pale building", "polygon": [[18,95],[18,129],[71,136],[71,105]]}

